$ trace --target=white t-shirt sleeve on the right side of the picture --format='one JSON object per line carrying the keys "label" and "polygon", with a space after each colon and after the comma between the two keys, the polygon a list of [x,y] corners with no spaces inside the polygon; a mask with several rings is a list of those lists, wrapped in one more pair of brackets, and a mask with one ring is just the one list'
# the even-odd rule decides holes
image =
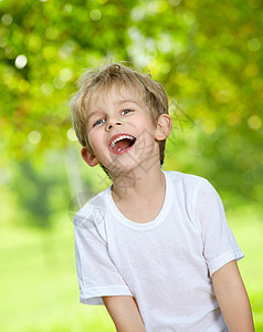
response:
{"label": "white t-shirt sleeve on the right side of the picture", "polygon": [[197,214],[201,226],[203,256],[210,276],[232,260],[244,257],[225,218],[222,200],[204,180],[197,193]]}

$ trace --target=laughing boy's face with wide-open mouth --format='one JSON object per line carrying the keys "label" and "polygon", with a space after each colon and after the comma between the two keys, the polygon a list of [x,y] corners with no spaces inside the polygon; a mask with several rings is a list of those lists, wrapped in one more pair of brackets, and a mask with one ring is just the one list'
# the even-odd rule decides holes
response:
{"label": "laughing boy's face with wide-open mouth", "polygon": [[159,163],[158,124],[135,91],[113,86],[92,96],[86,115],[91,149],[82,156],[90,166],[102,163],[113,174]]}

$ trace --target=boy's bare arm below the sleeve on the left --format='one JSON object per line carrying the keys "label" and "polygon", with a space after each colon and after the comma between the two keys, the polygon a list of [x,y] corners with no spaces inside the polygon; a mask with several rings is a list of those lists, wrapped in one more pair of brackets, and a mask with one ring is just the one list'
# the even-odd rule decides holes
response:
{"label": "boy's bare arm below the sleeve on the left", "polygon": [[103,297],[117,332],[146,332],[138,307],[133,297]]}

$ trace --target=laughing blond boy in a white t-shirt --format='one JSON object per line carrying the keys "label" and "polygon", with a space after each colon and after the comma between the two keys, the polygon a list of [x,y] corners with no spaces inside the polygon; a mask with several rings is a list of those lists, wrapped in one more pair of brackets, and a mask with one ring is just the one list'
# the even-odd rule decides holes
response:
{"label": "laughing blond boy in a white t-shirt", "polygon": [[210,183],[162,172],[162,85],[123,64],[86,73],[72,100],[82,157],[113,185],[75,216],[81,302],[118,332],[254,331],[243,257]]}

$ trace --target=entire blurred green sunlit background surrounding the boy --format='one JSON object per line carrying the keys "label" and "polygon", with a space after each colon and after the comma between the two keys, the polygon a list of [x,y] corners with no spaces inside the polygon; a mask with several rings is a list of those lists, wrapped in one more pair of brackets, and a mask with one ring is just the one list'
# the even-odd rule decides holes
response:
{"label": "entire blurred green sunlit background surrounding the boy", "polygon": [[78,303],[73,216],[109,181],[81,160],[67,103],[84,69],[122,60],[165,85],[173,129],[164,168],[220,193],[263,331],[262,9],[261,0],[0,1],[0,331],[114,331],[104,308]]}

